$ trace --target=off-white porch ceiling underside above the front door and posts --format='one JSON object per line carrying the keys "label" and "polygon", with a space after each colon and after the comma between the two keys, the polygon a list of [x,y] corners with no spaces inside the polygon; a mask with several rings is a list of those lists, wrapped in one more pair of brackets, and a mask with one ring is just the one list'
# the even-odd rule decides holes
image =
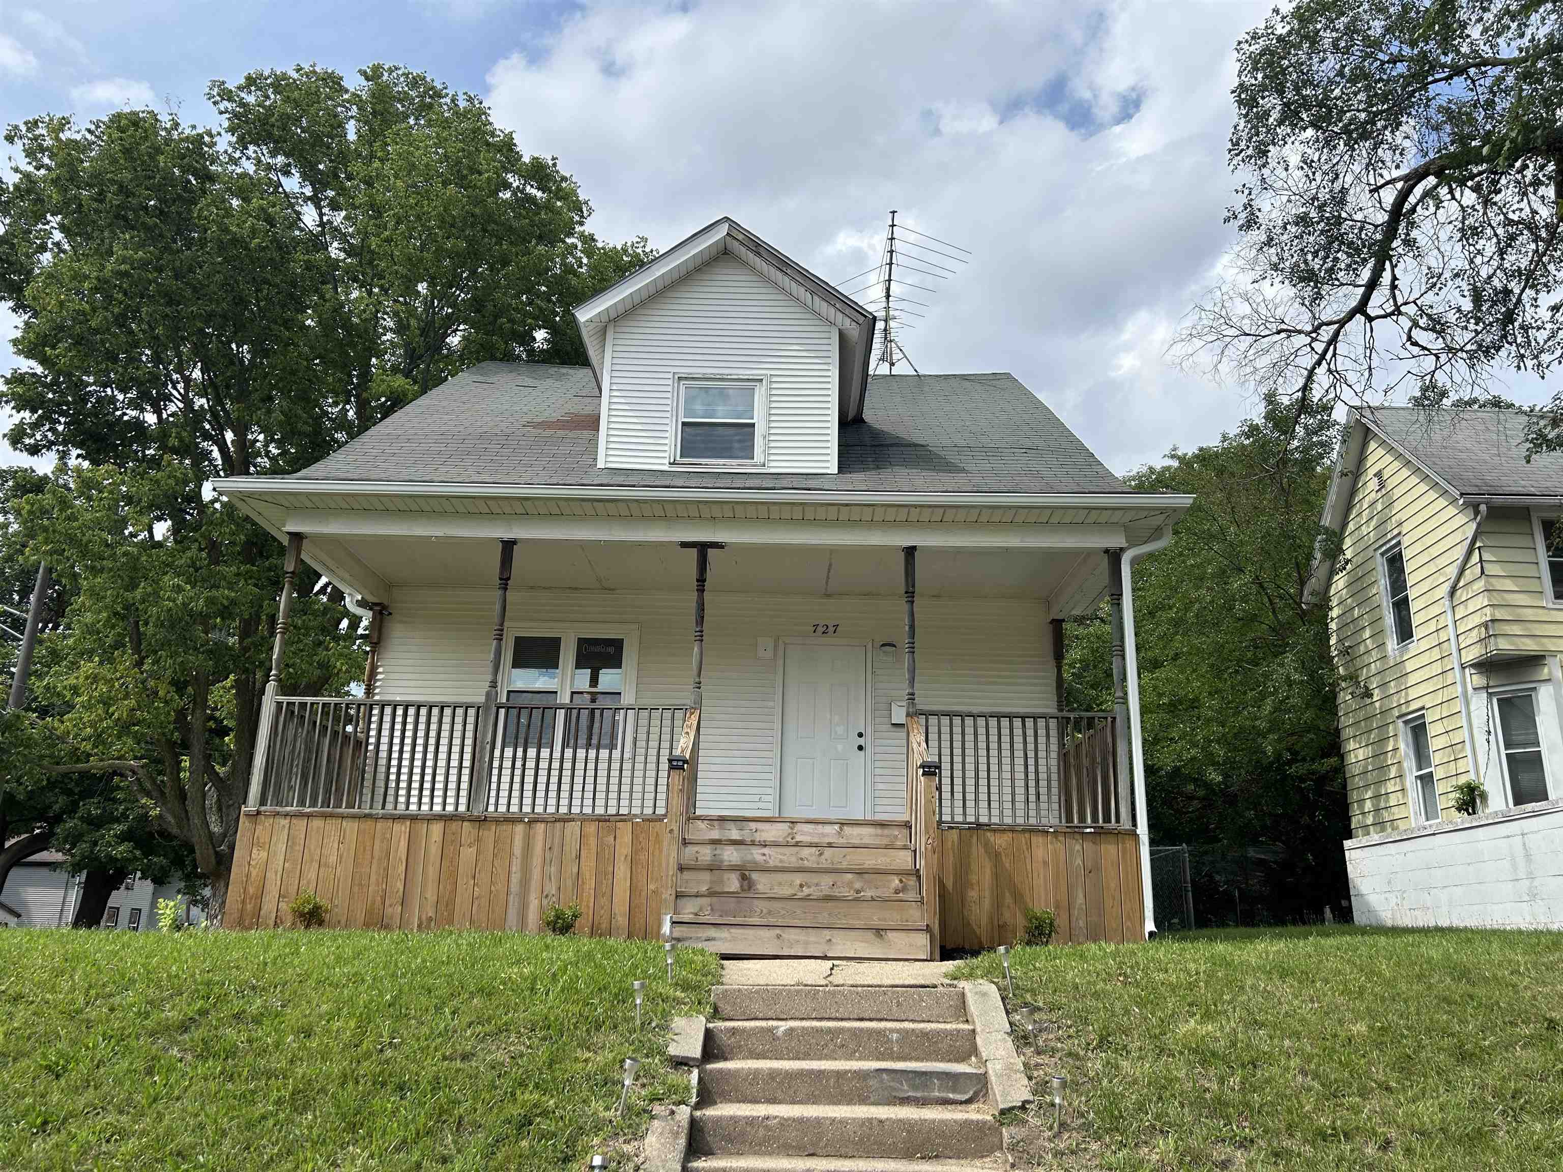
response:
{"label": "off-white porch ceiling underside above the front door and posts", "polygon": [[[489,589],[499,569],[494,539],[359,536],[338,538],[336,544],[391,588]],[[917,552],[917,595],[1047,599],[1085,586],[1102,561],[1096,550],[925,547]],[[708,591],[899,595],[902,566],[899,547],[728,544],[711,553]],[[522,541],[511,586],[686,592],[694,589],[694,555],[675,542]]]}

